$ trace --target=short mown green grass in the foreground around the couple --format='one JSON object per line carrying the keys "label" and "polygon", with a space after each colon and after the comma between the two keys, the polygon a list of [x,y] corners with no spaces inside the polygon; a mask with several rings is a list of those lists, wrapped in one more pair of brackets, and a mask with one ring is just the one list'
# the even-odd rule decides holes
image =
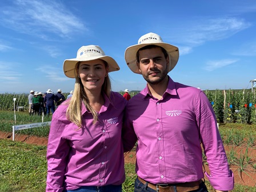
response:
{"label": "short mown green grass in the foreground around the couple", "polygon": [[[0,191],[1,192],[41,192],[45,191],[47,162],[46,147],[29,145],[22,142],[0,140]],[[4,161],[3,161],[4,160]],[[125,165],[126,180],[123,192],[133,191],[136,178],[135,165]],[[213,192],[210,183],[206,181],[209,192]],[[255,187],[235,184],[233,192],[256,192]]]}

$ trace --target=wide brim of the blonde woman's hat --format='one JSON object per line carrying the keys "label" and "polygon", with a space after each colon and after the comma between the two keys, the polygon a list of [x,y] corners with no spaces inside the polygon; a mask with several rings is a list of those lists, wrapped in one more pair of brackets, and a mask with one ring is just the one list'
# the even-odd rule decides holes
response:
{"label": "wide brim of the blonde woman's hat", "polygon": [[93,61],[95,59],[102,59],[103,61],[106,61],[107,64],[109,65],[109,72],[111,71],[118,71],[120,70],[120,67],[118,66],[117,62],[105,55],[105,56],[102,56],[102,57],[90,57],[89,58],[85,58],[85,59],[77,59],[77,58],[74,58],[74,59],[66,59],[63,63],[63,71],[65,73],[65,75],[69,78],[75,78],[75,66],[77,65],[78,62],[80,61]]}

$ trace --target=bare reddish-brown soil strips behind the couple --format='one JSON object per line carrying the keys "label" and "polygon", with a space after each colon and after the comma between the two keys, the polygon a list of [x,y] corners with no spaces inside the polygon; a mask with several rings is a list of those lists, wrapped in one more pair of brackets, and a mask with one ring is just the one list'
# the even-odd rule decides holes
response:
{"label": "bare reddish-brown soil strips behind the couple", "polygon": [[[0,131],[0,139],[10,139],[13,140],[12,133],[6,133]],[[45,137],[36,137],[36,136],[28,136],[28,135],[15,135],[15,141],[26,142],[33,145],[47,146],[48,138]],[[229,151],[235,150],[235,153],[238,155],[238,159],[240,158],[240,154],[244,155],[246,146],[225,146],[226,153],[229,154]],[[245,167],[244,171],[240,171],[241,167],[238,166],[230,166],[230,169],[234,173],[235,183],[239,183],[241,185],[246,186],[255,186],[256,187],[256,169],[251,165],[256,165],[256,147],[250,147],[248,149],[248,157],[250,157],[250,165]],[[136,152],[129,151],[125,153],[125,163],[136,163]],[[244,163],[246,165],[246,162]],[[209,167],[205,165],[205,170],[207,173],[210,173]],[[205,177],[207,179],[207,177]]]}

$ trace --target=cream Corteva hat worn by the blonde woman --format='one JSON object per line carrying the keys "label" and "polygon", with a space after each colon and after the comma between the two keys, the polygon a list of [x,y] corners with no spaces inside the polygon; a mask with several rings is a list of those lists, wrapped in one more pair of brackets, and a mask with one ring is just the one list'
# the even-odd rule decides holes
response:
{"label": "cream Corteva hat worn by the blonde woman", "polygon": [[75,66],[79,61],[93,61],[95,59],[102,59],[103,61],[106,61],[109,65],[109,72],[118,71],[120,69],[115,59],[105,55],[101,47],[97,45],[87,45],[82,46],[80,49],[78,49],[77,58],[66,59],[64,61],[64,73],[67,77],[75,78],[75,75],[77,75],[77,71],[75,71]]}

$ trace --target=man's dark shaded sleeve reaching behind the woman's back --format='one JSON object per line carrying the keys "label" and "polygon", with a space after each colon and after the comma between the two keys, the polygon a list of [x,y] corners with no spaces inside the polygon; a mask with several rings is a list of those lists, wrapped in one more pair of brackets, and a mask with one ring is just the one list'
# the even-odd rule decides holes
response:
{"label": "man's dark shaded sleeve reaching behind the woman's back", "polygon": [[125,110],[123,127],[122,127],[122,142],[123,142],[123,151],[127,152],[133,149],[135,143],[137,142],[137,135],[135,134],[133,128],[133,122],[129,119],[129,113],[127,113],[127,105]]}

